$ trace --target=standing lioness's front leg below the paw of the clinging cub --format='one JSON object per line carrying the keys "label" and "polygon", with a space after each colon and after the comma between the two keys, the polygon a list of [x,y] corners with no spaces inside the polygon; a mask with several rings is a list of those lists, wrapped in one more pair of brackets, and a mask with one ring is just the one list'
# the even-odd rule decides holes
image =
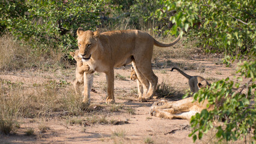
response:
{"label": "standing lioness's front leg below the paw of the clinging cub", "polygon": [[90,92],[93,86],[93,73],[84,73],[84,104],[90,104]]}

